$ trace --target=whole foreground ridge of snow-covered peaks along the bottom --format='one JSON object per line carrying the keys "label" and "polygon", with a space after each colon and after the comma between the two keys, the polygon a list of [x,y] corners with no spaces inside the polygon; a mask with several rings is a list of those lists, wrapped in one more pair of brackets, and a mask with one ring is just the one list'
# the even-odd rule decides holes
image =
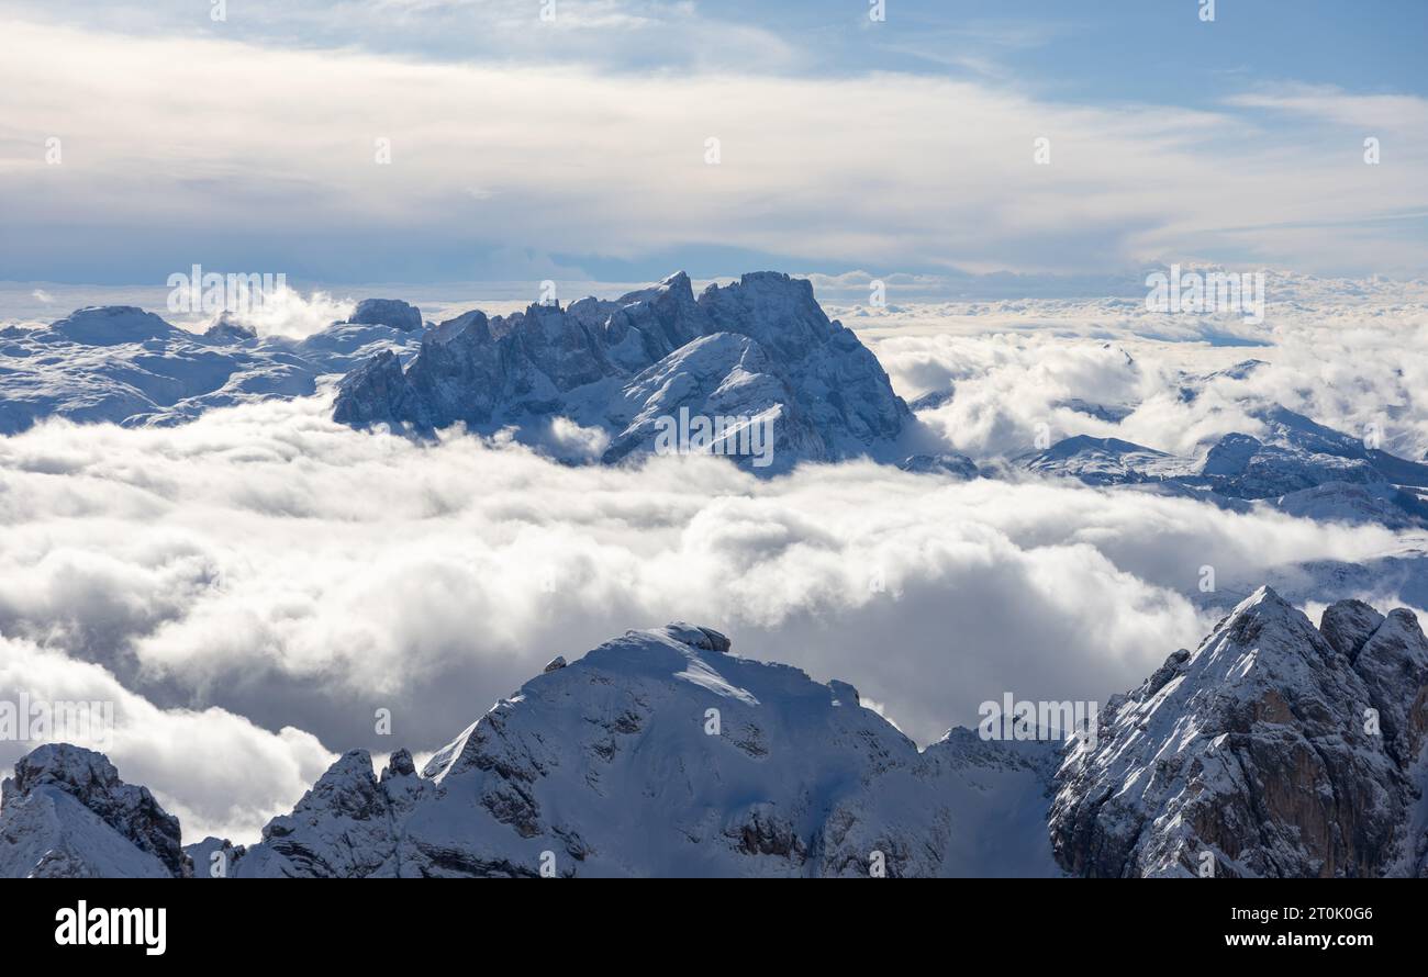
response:
{"label": "whole foreground ridge of snow-covered peaks along the bottom", "polygon": [[1428,640],[1262,588],[1065,745],[918,750],[843,682],[674,623],[553,660],[420,770],[341,756],[263,840],[177,849],[96,753],[43,746],[0,874],[1422,876]]}

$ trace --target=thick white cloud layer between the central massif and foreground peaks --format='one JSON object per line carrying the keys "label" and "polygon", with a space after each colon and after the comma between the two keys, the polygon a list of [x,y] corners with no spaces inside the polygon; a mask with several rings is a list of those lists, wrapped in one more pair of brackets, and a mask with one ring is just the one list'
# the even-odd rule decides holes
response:
{"label": "thick white cloud layer between the central massif and foreground peaks", "polygon": [[[327,409],[50,422],[0,441],[0,629],[161,709],[420,750],[555,653],[688,619],[851,680],[928,740],[1007,689],[1134,685],[1205,630],[1184,596],[1204,563],[1228,586],[1394,542],[873,464],[770,482],[710,458],[573,468],[460,434],[357,434]],[[374,745],[381,707],[394,736]]]}

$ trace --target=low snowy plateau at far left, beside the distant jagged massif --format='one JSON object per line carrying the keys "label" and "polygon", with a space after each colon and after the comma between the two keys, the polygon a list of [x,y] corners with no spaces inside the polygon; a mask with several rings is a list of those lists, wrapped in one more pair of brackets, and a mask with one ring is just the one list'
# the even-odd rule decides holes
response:
{"label": "low snowy plateau at far left, beside the distant jagged massif", "polygon": [[406,302],[368,300],[353,319],[294,339],[258,337],[227,315],[190,332],[153,312],[109,305],[39,329],[3,328],[0,435],[47,416],[176,424],[214,406],[307,397],[318,377],[346,374],[378,349],[404,357],[417,347],[421,317]]}

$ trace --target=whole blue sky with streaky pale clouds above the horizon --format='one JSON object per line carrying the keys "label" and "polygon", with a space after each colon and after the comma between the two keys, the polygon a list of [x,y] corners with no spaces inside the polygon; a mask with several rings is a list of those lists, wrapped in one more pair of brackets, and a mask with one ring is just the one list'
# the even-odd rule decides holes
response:
{"label": "whole blue sky with streaky pale clouds above the horizon", "polygon": [[1205,10],[3,0],[0,281],[1422,277],[1428,4]]}

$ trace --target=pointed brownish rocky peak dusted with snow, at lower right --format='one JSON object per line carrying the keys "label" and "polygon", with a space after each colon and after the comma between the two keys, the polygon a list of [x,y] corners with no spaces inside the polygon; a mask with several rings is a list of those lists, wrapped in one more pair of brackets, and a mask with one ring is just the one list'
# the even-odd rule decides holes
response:
{"label": "pointed brownish rocky peak dusted with snow, at lower right", "polygon": [[1051,834],[1084,876],[1418,876],[1428,642],[1407,610],[1319,629],[1262,588],[1072,740]]}

